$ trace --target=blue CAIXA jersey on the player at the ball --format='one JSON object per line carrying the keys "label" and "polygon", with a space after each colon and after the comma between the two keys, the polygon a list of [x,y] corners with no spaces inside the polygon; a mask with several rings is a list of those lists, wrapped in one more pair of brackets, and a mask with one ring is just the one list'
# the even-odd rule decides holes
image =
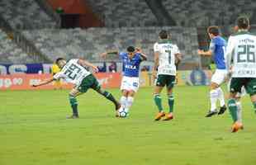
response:
{"label": "blue CAIXA jersey on the player at the ball", "polygon": [[140,63],[142,61],[140,54],[136,53],[132,59],[125,52],[121,52],[119,56],[123,63],[123,75],[126,77],[139,77]]}

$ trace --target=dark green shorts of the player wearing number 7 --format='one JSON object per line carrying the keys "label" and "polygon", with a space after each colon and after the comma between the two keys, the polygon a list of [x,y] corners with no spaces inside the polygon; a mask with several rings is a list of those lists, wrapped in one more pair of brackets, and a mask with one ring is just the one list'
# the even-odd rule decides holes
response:
{"label": "dark green shorts of the player wearing number 7", "polygon": [[165,74],[159,74],[155,82],[156,86],[159,86],[159,87],[166,86],[168,87],[168,89],[173,88],[174,84],[175,84],[175,76],[165,75]]}

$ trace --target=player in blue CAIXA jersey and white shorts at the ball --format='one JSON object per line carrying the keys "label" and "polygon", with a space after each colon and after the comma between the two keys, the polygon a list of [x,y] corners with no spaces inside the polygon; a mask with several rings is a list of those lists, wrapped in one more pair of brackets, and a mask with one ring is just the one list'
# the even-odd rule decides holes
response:
{"label": "player in blue CAIXA jersey and white shorts at the ball", "polygon": [[[147,56],[142,53],[138,48],[129,46],[127,52],[118,53],[123,63],[123,78],[121,80],[121,110],[125,110],[129,113],[130,106],[132,105],[135,97],[135,92],[139,89],[139,73],[140,63],[147,59]],[[112,52],[102,53],[102,57],[106,57],[107,54]],[[118,114],[116,114],[117,116]]]}

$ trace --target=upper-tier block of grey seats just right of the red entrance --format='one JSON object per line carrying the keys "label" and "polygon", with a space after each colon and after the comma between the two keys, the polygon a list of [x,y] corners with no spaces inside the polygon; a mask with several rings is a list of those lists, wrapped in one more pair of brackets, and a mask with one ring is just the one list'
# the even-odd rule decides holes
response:
{"label": "upper-tier block of grey seats just right of the red entrance", "polygon": [[86,0],[107,27],[157,26],[158,21],[145,1]]}

